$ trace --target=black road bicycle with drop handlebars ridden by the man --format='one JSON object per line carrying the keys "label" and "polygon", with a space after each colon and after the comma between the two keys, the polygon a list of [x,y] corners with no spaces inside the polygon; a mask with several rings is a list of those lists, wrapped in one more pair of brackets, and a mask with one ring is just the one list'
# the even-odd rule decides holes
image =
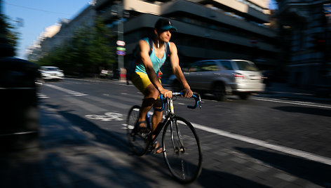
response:
{"label": "black road bicycle with drop handlebars ridden by the man", "polygon": [[[165,119],[154,130],[155,137],[153,139],[151,138],[150,131],[149,133],[140,133],[139,127],[136,126],[140,106],[135,105],[131,107],[128,113],[126,129],[129,145],[133,149],[133,153],[137,156],[142,156],[153,151],[155,147],[154,143],[163,129],[162,147],[165,163],[176,180],[182,183],[189,183],[196,180],[201,173],[202,153],[200,141],[194,126],[186,119],[175,115],[173,98],[178,95],[182,95],[182,93],[173,93],[172,98],[163,98],[163,95],[160,95],[162,108],[156,110],[163,111],[165,109],[165,103],[167,104],[167,110]],[[201,108],[200,95],[193,95],[192,98],[195,100],[195,105],[187,107],[195,109],[199,105]],[[146,120],[147,128],[151,130],[149,113],[147,113]]]}

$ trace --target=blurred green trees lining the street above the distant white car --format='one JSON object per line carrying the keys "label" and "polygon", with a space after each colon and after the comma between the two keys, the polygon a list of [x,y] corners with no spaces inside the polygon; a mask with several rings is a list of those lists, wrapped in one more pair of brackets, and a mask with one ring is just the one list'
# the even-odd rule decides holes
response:
{"label": "blurred green trees lining the street above the distant white car", "polygon": [[[90,76],[99,74],[100,67],[112,67],[115,62],[114,35],[101,18],[94,27],[84,26],[61,47],[44,55],[37,63],[60,67],[65,74]],[[112,42],[113,41],[113,42]]]}

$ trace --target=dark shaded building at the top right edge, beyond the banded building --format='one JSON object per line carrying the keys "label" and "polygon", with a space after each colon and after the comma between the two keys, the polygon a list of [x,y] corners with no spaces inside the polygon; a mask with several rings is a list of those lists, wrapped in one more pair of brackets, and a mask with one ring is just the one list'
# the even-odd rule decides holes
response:
{"label": "dark shaded building at the top right edge, beyond the banded building", "polygon": [[331,20],[325,6],[330,0],[278,0],[276,17],[287,30],[288,82],[311,88],[331,86]]}

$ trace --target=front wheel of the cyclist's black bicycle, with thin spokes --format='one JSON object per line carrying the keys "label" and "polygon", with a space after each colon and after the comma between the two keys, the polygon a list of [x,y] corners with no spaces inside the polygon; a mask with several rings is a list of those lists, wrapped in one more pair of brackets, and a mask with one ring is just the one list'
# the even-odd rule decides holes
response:
{"label": "front wheel of the cyclist's black bicycle, with thin spokes", "polygon": [[191,123],[179,116],[173,117],[163,130],[162,144],[170,173],[182,183],[196,180],[201,173],[202,153]]}

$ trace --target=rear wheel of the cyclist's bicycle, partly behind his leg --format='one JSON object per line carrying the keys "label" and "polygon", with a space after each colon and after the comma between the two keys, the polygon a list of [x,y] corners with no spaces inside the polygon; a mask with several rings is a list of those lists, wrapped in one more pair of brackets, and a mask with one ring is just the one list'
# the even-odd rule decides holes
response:
{"label": "rear wheel of the cyclist's bicycle, partly behind his leg", "polygon": [[147,133],[139,133],[138,128],[135,126],[139,117],[140,106],[131,107],[128,118],[126,119],[126,130],[128,135],[129,146],[133,150],[133,153],[142,156],[146,153],[148,145]]}

